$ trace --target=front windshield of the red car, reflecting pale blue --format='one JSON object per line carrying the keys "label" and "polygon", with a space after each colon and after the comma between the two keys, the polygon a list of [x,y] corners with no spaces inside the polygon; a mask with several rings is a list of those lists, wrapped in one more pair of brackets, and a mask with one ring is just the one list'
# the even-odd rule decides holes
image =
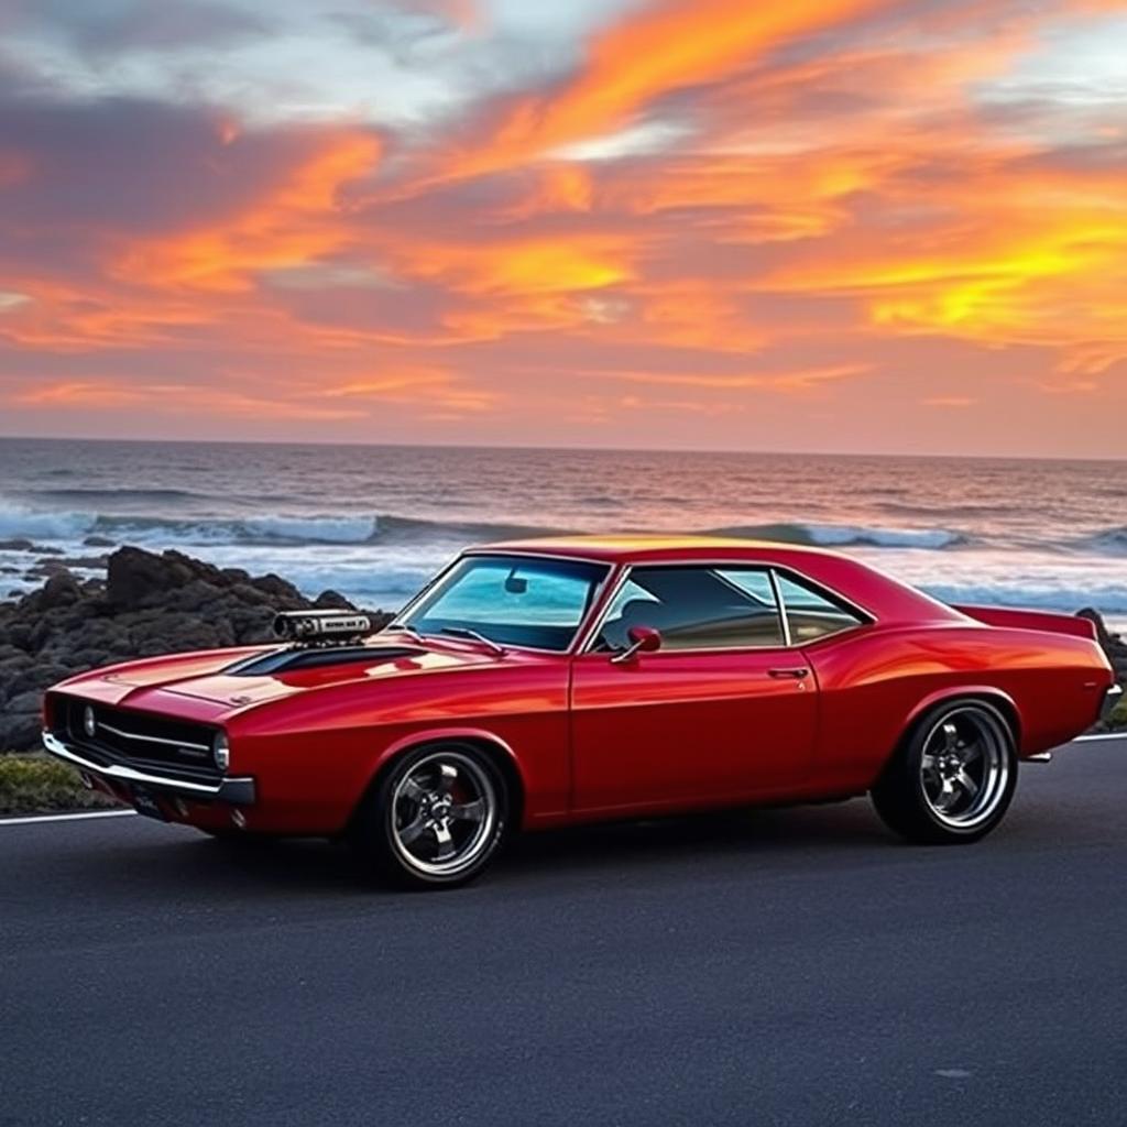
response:
{"label": "front windshield of the red car, reflecting pale blue", "polygon": [[609,570],[586,560],[465,556],[397,625],[564,651]]}

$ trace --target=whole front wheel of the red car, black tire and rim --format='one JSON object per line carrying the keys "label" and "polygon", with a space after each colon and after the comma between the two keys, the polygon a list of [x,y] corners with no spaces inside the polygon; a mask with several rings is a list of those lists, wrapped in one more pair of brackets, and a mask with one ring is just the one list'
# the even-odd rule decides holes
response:
{"label": "whole front wheel of the red car, black tire and rim", "polygon": [[503,773],[469,744],[407,752],[361,804],[348,843],[365,868],[402,888],[454,888],[478,877],[508,828]]}

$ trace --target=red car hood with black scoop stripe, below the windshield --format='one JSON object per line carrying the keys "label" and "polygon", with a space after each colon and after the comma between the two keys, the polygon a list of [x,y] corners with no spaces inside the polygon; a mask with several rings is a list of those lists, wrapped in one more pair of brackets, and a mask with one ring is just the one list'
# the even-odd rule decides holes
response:
{"label": "red car hood with black scoop stripe, below the windshield", "polygon": [[[175,698],[237,711],[347,682],[383,681],[497,665],[506,657],[477,648],[379,642],[346,649],[268,646],[134,662],[85,674],[60,687],[107,704],[175,710]],[[171,699],[170,699],[171,698]]]}

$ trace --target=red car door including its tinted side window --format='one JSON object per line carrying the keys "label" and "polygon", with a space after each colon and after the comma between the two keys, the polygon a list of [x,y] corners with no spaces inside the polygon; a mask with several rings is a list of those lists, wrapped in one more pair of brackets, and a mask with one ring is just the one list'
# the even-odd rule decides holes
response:
{"label": "red car door including its tinted side window", "polygon": [[[622,660],[631,627],[662,648]],[[577,810],[740,801],[800,786],[818,693],[767,568],[631,569],[573,664]]]}

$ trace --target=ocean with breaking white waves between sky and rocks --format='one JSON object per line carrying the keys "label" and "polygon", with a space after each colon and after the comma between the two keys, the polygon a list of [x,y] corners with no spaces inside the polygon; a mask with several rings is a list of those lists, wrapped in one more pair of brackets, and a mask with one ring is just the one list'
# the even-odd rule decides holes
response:
{"label": "ocean with breaking white waves between sky and rocks", "polygon": [[[838,548],[942,600],[1127,624],[1127,461],[0,440],[0,542],[177,548],[370,607],[467,544],[610,530]],[[41,556],[0,548],[0,597]]]}

